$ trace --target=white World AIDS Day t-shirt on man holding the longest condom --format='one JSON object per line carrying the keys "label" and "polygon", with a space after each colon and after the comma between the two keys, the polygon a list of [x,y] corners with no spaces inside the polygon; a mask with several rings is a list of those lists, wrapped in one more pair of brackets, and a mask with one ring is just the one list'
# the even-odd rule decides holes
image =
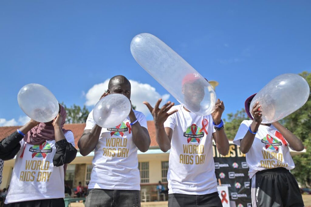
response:
{"label": "white World AIDS Day t-shirt on man holding the longest condom", "polygon": [[211,115],[199,116],[182,105],[173,106],[164,127],[173,129],[167,173],[169,194],[204,195],[217,191]]}

